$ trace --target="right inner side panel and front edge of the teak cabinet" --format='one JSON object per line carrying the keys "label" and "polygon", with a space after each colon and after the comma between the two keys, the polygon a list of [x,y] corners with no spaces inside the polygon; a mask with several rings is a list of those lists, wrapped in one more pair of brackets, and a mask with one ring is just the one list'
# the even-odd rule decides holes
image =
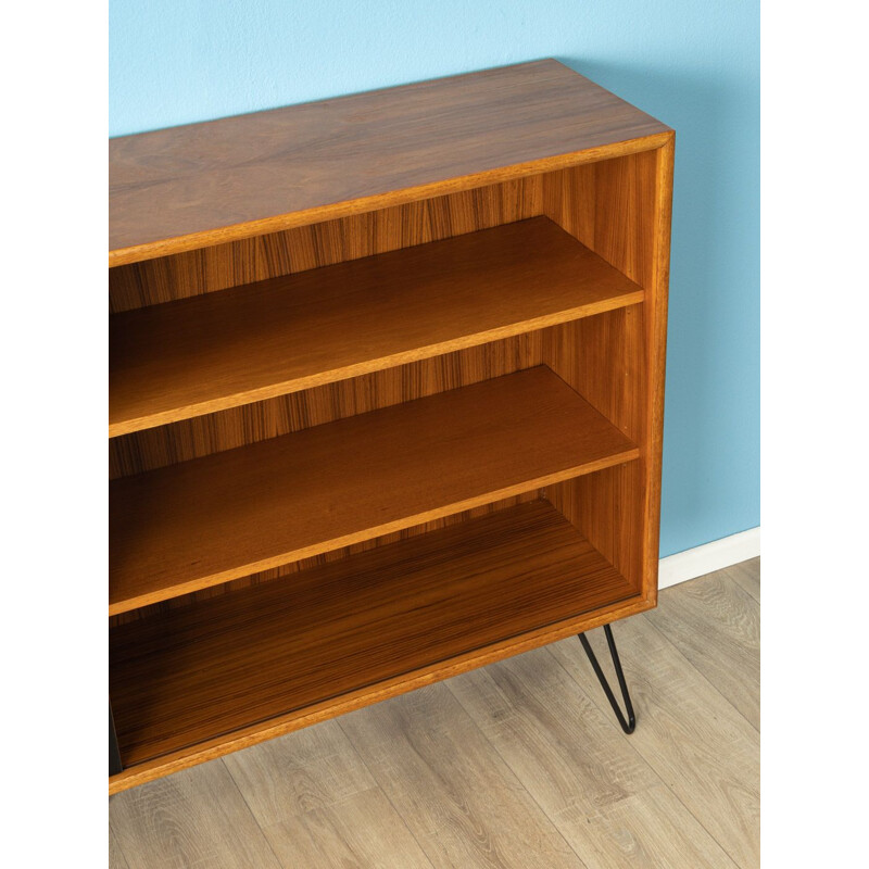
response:
{"label": "right inner side panel and front edge of the teak cabinet", "polygon": [[646,301],[544,332],[544,362],[634,440],[641,459],[549,500],[644,596],[657,590],[672,143],[544,176],[544,213],[646,290]]}

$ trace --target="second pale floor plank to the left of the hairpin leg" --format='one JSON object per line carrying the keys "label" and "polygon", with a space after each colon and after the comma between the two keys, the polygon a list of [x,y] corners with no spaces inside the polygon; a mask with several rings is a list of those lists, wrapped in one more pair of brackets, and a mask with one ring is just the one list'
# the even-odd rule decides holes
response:
{"label": "second pale floor plank to the left of the hairpin leg", "polygon": [[583,868],[444,683],[339,722],[438,869]]}

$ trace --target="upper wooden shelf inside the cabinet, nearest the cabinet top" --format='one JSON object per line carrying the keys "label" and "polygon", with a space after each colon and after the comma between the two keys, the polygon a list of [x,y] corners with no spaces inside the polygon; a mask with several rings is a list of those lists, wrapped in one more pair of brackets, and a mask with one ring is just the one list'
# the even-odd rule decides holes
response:
{"label": "upper wooden shelf inside the cabinet, nearest the cabinet top", "polygon": [[546,217],[116,314],[115,437],[643,301]]}

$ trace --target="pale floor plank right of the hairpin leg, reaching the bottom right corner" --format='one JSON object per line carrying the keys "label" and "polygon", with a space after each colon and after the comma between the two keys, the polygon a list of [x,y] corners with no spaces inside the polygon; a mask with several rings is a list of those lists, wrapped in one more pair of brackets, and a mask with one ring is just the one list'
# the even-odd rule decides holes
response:
{"label": "pale floor plank right of the hairpin leg, reaching the bottom right corner", "polygon": [[[662,592],[662,608],[673,593],[681,595],[682,589]],[[621,738],[741,869],[755,869],[760,809],[757,730],[645,614],[620,621],[614,632],[638,719],[633,734]],[[592,633],[599,658],[608,660],[602,632]],[[576,653],[574,643],[563,640],[550,650],[599,708],[612,715],[588,659]]]}

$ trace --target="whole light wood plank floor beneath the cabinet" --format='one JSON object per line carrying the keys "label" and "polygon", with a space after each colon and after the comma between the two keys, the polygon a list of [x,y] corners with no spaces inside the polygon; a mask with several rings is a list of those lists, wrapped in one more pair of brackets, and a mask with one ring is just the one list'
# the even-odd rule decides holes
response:
{"label": "whole light wood plank floor beneath the cabinet", "polygon": [[755,558],[615,626],[631,736],[572,638],[121,793],[110,865],[752,869],[759,596]]}

